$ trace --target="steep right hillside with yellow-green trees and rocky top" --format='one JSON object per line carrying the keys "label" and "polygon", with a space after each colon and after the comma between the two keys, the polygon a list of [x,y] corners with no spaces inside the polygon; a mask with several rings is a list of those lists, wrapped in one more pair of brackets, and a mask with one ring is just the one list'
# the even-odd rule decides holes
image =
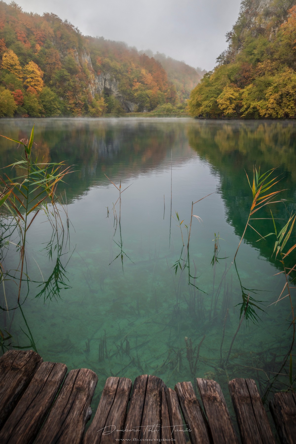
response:
{"label": "steep right hillside with yellow-green trees and rocky top", "polygon": [[193,89],[193,116],[294,118],[296,6],[292,0],[243,0],[229,46]]}

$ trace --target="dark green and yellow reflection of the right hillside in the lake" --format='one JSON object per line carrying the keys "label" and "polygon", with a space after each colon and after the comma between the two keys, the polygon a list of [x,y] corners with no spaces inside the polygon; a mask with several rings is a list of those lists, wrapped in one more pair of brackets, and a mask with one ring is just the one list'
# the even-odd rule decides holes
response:
{"label": "dark green and yellow reflection of the right hillside in the lake", "polygon": [[[255,165],[257,168],[260,166],[261,171],[277,167],[276,174],[281,178],[277,189],[285,190],[278,197],[287,201],[276,204],[272,211],[275,218],[288,220],[295,209],[296,143],[293,123],[198,122],[194,128],[188,128],[188,139],[190,146],[219,174],[227,221],[238,236],[243,233],[252,200],[245,171],[253,175]],[[269,208],[263,208],[258,217],[270,219]],[[258,220],[255,228],[263,235],[268,234],[272,231],[272,221]],[[260,254],[270,260],[273,247],[268,240],[257,242],[258,239],[255,231],[247,230],[246,242],[260,249]]]}

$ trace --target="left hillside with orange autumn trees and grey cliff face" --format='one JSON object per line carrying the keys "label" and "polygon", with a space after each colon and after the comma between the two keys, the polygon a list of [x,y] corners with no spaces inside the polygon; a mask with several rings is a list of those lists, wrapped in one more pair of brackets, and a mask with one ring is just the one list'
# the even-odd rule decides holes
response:
{"label": "left hillside with orange autumn trees and grey cliff face", "polygon": [[0,117],[184,109],[201,75],[175,62],[166,69],[125,43],[85,37],[53,13],[0,1]]}

